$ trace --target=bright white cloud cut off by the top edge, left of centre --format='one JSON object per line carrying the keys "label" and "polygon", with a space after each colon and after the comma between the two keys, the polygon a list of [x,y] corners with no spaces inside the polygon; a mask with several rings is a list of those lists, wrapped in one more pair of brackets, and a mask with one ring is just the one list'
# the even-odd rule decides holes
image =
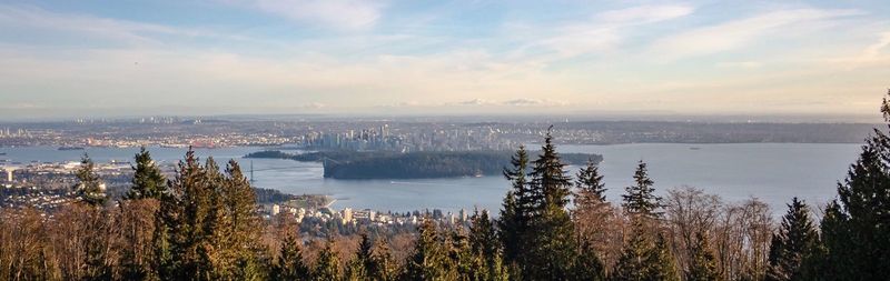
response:
{"label": "bright white cloud cut off by the top edge, left of centre", "polygon": [[320,23],[342,30],[373,27],[384,4],[375,0],[255,0],[256,8],[303,23]]}

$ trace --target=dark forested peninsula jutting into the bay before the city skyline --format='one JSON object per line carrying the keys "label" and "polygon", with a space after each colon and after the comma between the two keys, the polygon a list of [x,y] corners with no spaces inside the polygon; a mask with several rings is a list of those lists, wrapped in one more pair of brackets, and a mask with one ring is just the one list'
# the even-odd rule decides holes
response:
{"label": "dark forested peninsula jutting into the bay before the city skyline", "polygon": [[[497,175],[510,164],[512,151],[322,151],[291,154],[278,150],[259,151],[245,158],[291,159],[304,162],[323,162],[325,178],[367,179],[433,179]],[[530,155],[536,155],[536,151]],[[566,164],[599,163],[603,157],[586,153],[561,154]]]}

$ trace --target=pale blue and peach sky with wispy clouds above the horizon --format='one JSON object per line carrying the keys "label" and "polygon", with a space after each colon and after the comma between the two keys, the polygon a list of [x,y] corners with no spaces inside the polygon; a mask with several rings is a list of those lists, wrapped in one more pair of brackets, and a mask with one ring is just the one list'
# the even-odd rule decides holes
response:
{"label": "pale blue and peach sky with wispy clouds above the horizon", "polygon": [[873,1],[0,2],[0,118],[878,116]]}

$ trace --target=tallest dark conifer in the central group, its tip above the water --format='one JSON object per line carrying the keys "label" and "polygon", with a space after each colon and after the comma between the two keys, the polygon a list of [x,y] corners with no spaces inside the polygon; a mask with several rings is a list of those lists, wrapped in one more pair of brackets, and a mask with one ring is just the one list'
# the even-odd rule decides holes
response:
{"label": "tallest dark conifer in the central group, its tip above the water", "polygon": [[565,209],[572,180],[553,144],[552,128],[547,130],[541,155],[530,173],[531,193],[537,194],[537,200],[531,208],[534,214],[530,235],[533,248],[526,253],[530,262],[522,270],[536,280],[568,279],[577,253],[572,219]]}

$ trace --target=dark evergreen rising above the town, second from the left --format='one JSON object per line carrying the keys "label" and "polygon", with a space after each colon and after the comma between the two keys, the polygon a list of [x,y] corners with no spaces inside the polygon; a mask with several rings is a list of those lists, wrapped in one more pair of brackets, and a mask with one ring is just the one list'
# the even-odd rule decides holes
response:
{"label": "dark evergreen rising above the town, second from the left", "polygon": [[146,199],[154,198],[160,199],[164,190],[167,188],[167,178],[160,171],[160,168],[151,160],[151,154],[146,150],[146,147],[139,149],[139,153],[135,157],[136,165],[132,167],[132,187],[125,194],[125,199]]}

